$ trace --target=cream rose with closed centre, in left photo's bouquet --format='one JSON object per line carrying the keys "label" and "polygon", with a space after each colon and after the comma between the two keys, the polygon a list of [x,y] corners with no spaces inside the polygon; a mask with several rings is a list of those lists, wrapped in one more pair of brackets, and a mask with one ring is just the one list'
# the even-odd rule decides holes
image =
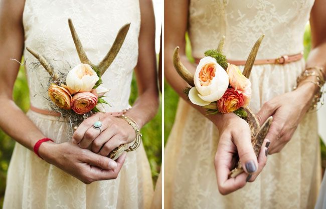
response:
{"label": "cream rose with closed centre, in left photo's bouquet", "polygon": [[99,77],[88,64],[79,64],[71,69],[66,78],[67,88],[71,94],[89,92],[93,89]]}

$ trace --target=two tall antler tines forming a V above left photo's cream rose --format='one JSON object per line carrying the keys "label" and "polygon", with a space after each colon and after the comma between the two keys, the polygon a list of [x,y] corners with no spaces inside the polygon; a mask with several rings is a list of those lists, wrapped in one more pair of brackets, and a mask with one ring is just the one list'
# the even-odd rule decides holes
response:
{"label": "two tall antler tines forming a V above left photo's cream rose", "polygon": [[129,27],[130,27],[130,23],[127,23],[120,28],[109,52],[106,54],[106,56],[103,58],[103,60],[98,65],[94,65],[87,58],[87,55],[83,49],[83,46],[79,40],[79,37],[74,28],[74,25],[72,24],[71,19],[68,19],[68,24],[69,24],[70,32],[71,32],[72,38],[74,40],[75,47],[76,47],[80,62],[84,63],[84,64],[89,64],[92,67],[95,67],[98,70],[98,73],[100,76],[104,74],[104,72],[108,69],[108,67],[112,64],[113,60],[117,56],[117,54],[120,51],[120,48],[124,42],[124,39],[128,33]]}

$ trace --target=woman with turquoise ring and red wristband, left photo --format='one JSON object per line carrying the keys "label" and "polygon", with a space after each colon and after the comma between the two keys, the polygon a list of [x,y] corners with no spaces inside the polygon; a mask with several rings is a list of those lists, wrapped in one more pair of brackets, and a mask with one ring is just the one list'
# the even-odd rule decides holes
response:
{"label": "woman with turquoise ring and red wristband, left photo", "polygon": [[[151,1],[2,1],[0,127],[19,142],[8,170],[4,208],[149,208],[152,181],[143,146],[116,162],[106,157],[117,143],[132,143],[135,131],[125,120],[110,113],[94,114],[78,127],[72,140],[68,122],[49,112],[47,89],[42,88],[49,82],[44,79],[48,75],[42,67],[33,69],[31,63],[36,60],[25,47],[57,60],[53,63],[61,70],[69,70],[67,62],[72,67],[79,64],[68,18],[95,63],[106,55],[120,27],[131,23],[117,57],[102,76],[104,86],[110,89],[107,100],[111,106],[105,107],[106,112],[129,107],[134,68],[139,96],[125,115],[142,127],[157,110]],[[10,58],[20,60],[22,55],[34,110],[27,115],[12,98],[19,65]],[[92,127],[94,119],[102,122],[101,133]],[[38,157],[31,150],[45,137],[54,142],[42,143]],[[84,149],[88,145],[91,149]]]}

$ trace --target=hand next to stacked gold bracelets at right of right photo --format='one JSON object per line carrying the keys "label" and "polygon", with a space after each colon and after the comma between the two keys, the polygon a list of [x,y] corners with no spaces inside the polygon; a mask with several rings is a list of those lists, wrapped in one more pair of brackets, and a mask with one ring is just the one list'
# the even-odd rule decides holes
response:
{"label": "hand next to stacked gold bracelets at right of right photo", "polygon": [[260,124],[273,116],[273,123],[266,135],[270,140],[269,153],[282,150],[293,136],[296,127],[310,107],[312,97],[316,90],[313,83],[304,83],[295,91],[274,97],[266,102],[257,113]]}

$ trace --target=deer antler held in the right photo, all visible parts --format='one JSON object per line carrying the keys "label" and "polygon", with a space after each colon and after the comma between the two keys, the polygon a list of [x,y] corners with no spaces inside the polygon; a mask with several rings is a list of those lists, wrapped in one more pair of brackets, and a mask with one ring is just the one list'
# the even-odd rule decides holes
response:
{"label": "deer antler held in the right photo, all visible parts", "polygon": [[[262,35],[255,43],[255,45],[253,46],[253,48],[251,49],[251,52],[248,56],[248,59],[246,61],[245,64],[245,68],[243,71],[243,75],[246,76],[247,78],[249,78],[250,73],[251,73],[251,69],[252,66],[255,62],[256,59],[256,55],[260,46],[260,43],[262,42],[264,38],[264,35]],[[219,53],[222,53],[223,51],[223,45],[224,45],[224,39],[225,37],[222,36],[220,42],[219,42],[219,46],[217,51]],[[177,47],[174,51],[173,54],[173,64],[177,70],[177,72],[179,73],[179,75],[192,87],[194,87],[194,74],[192,74],[191,72],[188,71],[188,69],[180,62],[180,57],[179,57],[179,47]],[[247,107],[244,108],[244,110],[247,113],[247,117],[245,118],[245,120],[247,121],[247,123],[249,124],[249,127],[251,129],[251,143],[253,145],[254,151],[256,156],[258,157],[259,155],[259,151],[260,148],[263,144],[263,141],[267,135],[267,132],[269,130],[269,127],[273,121],[273,117],[269,117],[262,126],[259,125],[259,122],[257,120],[256,115],[252,112],[252,110]],[[242,173],[244,170],[242,168],[241,162],[240,160],[238,160],[238,162],[236,163],[236,166],[233,170],[231,170],[229,176],[230,177],[236,177],[237,175],[239,175],[240,173]]]}

